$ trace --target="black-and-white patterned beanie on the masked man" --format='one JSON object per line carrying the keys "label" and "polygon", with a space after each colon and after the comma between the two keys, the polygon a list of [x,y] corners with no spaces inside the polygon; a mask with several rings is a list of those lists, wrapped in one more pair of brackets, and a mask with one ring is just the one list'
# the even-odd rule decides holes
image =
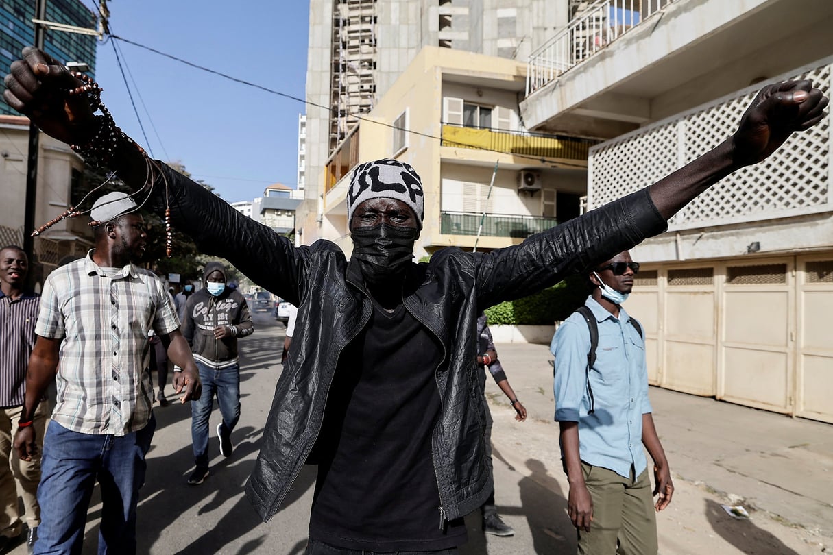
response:
{"label": "black-and-white patterned beanie on the masked man", "polygon": [[356,166],[347,190],[347,225],[350,225],[357,206],[377,198],[407,204],[416,216],[419,229],[422,229],[422,216],[425,214],[422,181],[410,164],[384,158]]}

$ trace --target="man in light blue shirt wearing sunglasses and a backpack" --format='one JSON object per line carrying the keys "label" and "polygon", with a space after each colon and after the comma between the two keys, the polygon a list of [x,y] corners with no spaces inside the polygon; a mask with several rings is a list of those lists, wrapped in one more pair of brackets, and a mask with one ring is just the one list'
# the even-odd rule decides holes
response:
{"label": "man in light blue shirt wearing sunglasses and a backpack", "polygon": [[[651,416],[641,326],[621,307],[638,271],[624,251],[589,275],[594,289],[585,305],[598,327],[589,371],[591,334],[580,313],[559,326],[550,345],[556,355],[561,456],[570,484],[567,509],[578,532],[578,553],[656,554],[654,509],[666,508],[674,492]],[[654,460],[656,505],[643,445]]]}

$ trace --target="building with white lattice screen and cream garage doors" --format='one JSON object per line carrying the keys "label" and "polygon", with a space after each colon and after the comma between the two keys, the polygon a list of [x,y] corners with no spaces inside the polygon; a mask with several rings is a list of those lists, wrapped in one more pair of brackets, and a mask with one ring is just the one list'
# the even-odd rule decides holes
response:
{"label": "building with white lattice screen and cream garage doors", "polygon": [[[594,136],[587,207],[734,131],[766,82],[831,92],[833,3],[586,2],[531,53],[521,115]],[[722,181],[633,250],[651,382],[833,422],[831,124]]]}

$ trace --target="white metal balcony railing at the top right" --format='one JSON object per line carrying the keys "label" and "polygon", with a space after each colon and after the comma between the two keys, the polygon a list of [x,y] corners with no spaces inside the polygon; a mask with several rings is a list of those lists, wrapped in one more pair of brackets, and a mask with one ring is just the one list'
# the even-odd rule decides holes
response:
{"label": "white metal balcony railing at the top right", "polygon": [[677,0],[598,0],[545,42],[526,64],[526,95],[544,87]]}

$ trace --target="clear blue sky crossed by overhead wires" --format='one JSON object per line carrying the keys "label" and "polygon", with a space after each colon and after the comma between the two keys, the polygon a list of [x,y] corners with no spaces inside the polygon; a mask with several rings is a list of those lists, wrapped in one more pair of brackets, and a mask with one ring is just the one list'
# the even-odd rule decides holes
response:
{"label": "clear blue sky crossed by overhead wires", "polygon": [[[82,2],[91,8],[97,3]],[[305,97],[307,0],[112,0],[107,5],[114,35]],[[122,57],[147,141],[111,42]],[[252,201],[275,182],[296,186],[297,117],[307,111],[302,102],[112,39],[98,43],[96,80],[104,89],[102,101],[127,135],[146,148],[149,143],[158,159],[181,161],[223,199]]]}

